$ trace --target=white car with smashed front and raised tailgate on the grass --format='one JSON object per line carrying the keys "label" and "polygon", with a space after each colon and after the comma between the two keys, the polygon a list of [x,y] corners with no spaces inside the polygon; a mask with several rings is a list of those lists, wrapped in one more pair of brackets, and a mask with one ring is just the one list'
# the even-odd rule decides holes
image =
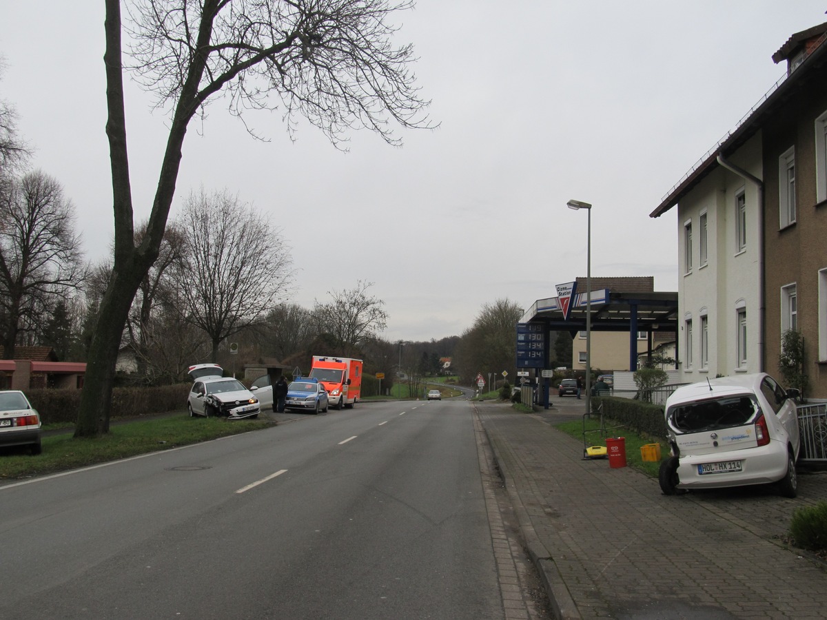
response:
{"label": "white car with smashed front and raised tailgate on the grass", "polygon": [[187,398],[189,416],[224,416],[231,420],[258,417],[258,398],[241,381],[222,377],[221,373],[221,366],[215,364],[189,367],[189,375],[195,379]]}

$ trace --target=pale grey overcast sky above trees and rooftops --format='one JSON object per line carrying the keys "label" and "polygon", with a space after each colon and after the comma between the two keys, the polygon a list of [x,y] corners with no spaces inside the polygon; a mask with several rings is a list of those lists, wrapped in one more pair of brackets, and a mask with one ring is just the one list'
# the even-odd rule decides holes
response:
{"label": "pale grey overcast sky above trees and rooftops", "polygon": [[[785,72],[772,54],[827,21],[811,0],[418,0],[394,42],[413,43],[435,130],[369,131],[335,149],[279,112],[222,102],[184,142],[175,217],[191,190],[227,189],[279,229],[293,257],[289,302],[372,283],[390,341],[459,336],[481,308],[528,308],[591,274],[654,276],[677,290],[676,209],[662,198]],[[103,0],[2,0],[0,99],[63,184],[88,260],[112,242]],[[126,83],[136,221],[148,217],[168,120]]]}

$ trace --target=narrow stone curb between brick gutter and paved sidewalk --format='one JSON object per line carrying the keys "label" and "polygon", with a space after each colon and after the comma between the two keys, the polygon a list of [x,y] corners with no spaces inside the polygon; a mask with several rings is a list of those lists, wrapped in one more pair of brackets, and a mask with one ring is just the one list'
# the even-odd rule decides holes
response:
{"label": "narrow stone curb between brick gutter and paved sidewalk", "polygon": [[[480,412],[476,408],[476,404],[474,406],[474,413],[479,419]],[[543,545],[543,542],[540,541],[537,532],[534,531],[531,518],[528,517],[528,510],[526,510],[522,498],[520,498],[517,493],[514,479],[504,465],[504,460],[500,455],[500,447],[497,446],[496,441],[493,441],[488,428],[485,427],[485,423],[483,423],[481,419],[480,424],[485,430],[485,437],[488,439],[489,446],[491,446],[497,469],[500,470],[505,490],[509,494],[509,498],[514,507],[514,513],[517,515],[517,522],[519,523],[520,532],[523,534],[523,539],[528,549],[528,556],[537,568],[540,579],[543,580],[543,586],[546,589],[548,600],[552,604],[554,617],[557,618],[557,620],[582,620],[583,617],[577,609],[574,599],[571,598],[571,593],[568,591],[568,588],[566,588],[566,583],[563,581],[560,571],[557,570],[554,558],[552,558],[551,554]]]}

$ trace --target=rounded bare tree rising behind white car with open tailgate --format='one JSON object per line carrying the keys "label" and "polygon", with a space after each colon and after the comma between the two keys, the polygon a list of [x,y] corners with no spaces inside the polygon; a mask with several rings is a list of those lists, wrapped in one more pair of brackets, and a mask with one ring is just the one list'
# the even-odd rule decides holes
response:
{"label": "rounded bare tree rising behind white car with open tailgate", "polygon": [[293,272],[280,231],[227,191],[191,193],[178,222],[184,237],[179,282],[186,320],[218,346],[261,322]]}

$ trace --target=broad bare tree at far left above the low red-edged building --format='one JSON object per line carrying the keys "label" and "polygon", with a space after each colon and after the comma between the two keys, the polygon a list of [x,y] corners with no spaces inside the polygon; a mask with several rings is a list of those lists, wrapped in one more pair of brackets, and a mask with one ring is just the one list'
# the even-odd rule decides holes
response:
{"label": "broad bare tree at far left above the low red-edged building", "polygon": [[22,331],[45,320],[82,284],[80,236],[63,188],[40,171],[0,193],[0,310],[3,356],[14,358]]}

